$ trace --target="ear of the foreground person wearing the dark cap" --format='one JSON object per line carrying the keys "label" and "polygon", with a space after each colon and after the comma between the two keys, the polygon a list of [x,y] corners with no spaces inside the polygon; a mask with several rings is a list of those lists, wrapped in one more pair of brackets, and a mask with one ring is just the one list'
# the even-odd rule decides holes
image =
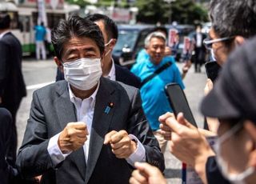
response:
{"label": "ear of the foreground person wearing the dark cap", "polygon": [[250,149],[248,165],[256,168],[256,124],[251,121],[246,121],[244,128],[254,142]]}

